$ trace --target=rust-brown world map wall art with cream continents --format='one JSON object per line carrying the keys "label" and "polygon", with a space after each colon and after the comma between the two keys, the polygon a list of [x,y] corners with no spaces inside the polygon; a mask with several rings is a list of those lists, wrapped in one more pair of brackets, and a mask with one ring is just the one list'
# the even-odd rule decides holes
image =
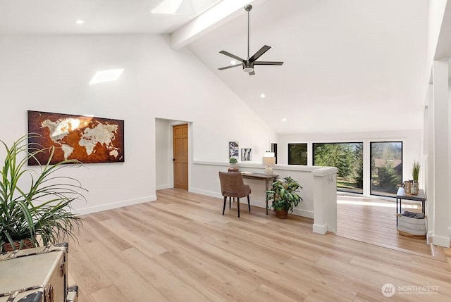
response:
{"label": "rust-brown world map wall art with cream continents", "polygon": [[[83,115],[28,111],[29,143],[44,148],[55,146],[51,163],[77,159],[82,163],[115,163],[124,161],[124,121]],[[37,160],[47,163],[48,153],[38,153]],[[28,165],[37,162],[28,161]]]}

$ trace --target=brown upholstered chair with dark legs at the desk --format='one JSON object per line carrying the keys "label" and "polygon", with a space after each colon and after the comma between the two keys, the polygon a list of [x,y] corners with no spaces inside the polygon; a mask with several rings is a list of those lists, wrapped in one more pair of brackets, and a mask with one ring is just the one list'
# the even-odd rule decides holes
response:
{"label": "brown upholstered chair with dark legs at the desk", "polygon": [[245,184],[242,180],[240,172],[219,172],[219,181],[221,182],[221,194],[224,196],[223,215],[226,210],[227,197],[229,198],[229,208],[232,208],[232,197],[237,198],[238,217],[240,217],[240,198],[247,196],[247,206],[249,206],[249,212],[251,211],[251,203],[249,200],[249,194],[251,194],[251,188],[249,184]]}

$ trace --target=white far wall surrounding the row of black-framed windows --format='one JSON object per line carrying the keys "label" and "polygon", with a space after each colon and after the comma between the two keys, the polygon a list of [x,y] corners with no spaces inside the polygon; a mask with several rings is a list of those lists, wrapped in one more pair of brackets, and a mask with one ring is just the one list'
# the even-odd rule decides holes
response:
{"label": "white far wall surrounding the row of black-framed windows", "polygon": [[[288,163],[288,144],[307,143],[308,165],[313,164],[313,143],[327,142],[363,142],[364,161],[369,163],[370,141],[402,141],[402,177],[404,180],[412,179],[412,165],[414,161],[421,162],[422,159],[422,130],[403,131],[381,131],[381,132],[354,132],[354,133],[333,133],[333,134],[285,134],[280,135],[278,140],[278,163]],[[364,195],[369,196],[369,168],[364,165]],[[424,170],[420,169],[419,182],[423,184]]]}

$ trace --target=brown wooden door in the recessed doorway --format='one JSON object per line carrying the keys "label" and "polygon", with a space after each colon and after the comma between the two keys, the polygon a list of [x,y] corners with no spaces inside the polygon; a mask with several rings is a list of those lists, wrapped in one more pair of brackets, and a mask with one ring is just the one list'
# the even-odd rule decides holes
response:
{"label": "brown wooden door in the recessed doorway", "polygon": [[174,188],[188,189],[188,125],[173,127]]}

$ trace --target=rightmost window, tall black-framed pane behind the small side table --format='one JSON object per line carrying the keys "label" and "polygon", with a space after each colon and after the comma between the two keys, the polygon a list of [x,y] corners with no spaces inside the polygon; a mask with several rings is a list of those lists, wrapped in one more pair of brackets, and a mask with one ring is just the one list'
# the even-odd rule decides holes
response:
{"label": "rightmost window, tall black-framed pane behind the small side table", "polygon": [[370,194],[394,197],[402,182],[402,141],[371,141],[370,146]]}

